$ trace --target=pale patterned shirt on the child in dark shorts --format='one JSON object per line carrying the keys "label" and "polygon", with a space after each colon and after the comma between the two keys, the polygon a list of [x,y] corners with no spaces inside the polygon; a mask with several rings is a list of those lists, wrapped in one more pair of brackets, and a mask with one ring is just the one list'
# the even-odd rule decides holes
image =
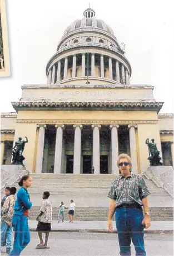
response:
{"label": "pale patterned shirt on the child in dark shorts", "polygon": [[43,214],[39,216],[38,220],[44,223],[51,223],[53,210],[52,210],[51,202],[49,202],[48,199],[43,200],[40,211],[42,211]]}

